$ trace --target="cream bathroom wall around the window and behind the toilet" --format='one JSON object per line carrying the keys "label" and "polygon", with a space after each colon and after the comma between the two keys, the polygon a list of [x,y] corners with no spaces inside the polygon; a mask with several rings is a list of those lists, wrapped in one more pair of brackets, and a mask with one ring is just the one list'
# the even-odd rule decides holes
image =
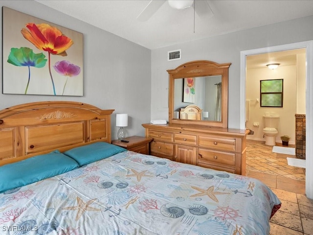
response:
{"label": "cream bathroom wall around the window and behind the toilet", "polygon": [[[284,96],[282,108],[260,107],[260,80],[283,79]],[[294,144],[295,138],[295,113],[296,113],[296,66],[279,66],[275,70],[247,69],[246,70],[246,99],[250,100],[250,120],[246,121],[246,127],[254,131],[254,135],[247,136],[249,140],[265,141],[263,138],[263,128],[265,113],[274,113],[279,116],[278,134],[276,142],[280,142],[280,137],[290,136],[290,143]],[[305,90],[303,91],[305,93]],[[260,124],[254,127],[253,123]]]}

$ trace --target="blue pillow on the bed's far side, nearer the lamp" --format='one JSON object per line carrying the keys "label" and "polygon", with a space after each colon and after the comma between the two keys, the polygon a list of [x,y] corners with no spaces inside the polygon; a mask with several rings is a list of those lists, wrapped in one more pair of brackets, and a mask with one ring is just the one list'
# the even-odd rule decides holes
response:
{"label": "blue pillow on the bed's far side, nearer the lamp", "polygon": [[64,154],[74,159],[79,166],[82,166],[124,151],[127,150],[111,143],[95,142],[85,146],[72,148],[64,152]]}

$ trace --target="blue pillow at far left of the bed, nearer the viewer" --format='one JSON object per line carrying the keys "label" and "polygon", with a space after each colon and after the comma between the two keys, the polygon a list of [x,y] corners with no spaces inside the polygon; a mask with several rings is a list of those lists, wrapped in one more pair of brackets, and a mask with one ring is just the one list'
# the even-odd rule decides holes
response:
{"label": "blue pillow at far left of the bed, nearer the viewer", "polygon": [[6,164],[0,166],[0,192],[29,185],[78,167],[73,159],[58,150]]}

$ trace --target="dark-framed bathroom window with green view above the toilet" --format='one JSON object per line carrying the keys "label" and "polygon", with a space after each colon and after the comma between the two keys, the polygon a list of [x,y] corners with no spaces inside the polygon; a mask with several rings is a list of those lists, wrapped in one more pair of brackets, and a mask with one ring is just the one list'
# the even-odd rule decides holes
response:
{"label": "dark-framed bathroom window with green view above the toilet", "polygon": [[284,79],[260,81],[261,107],[283,107],[283,81]]}

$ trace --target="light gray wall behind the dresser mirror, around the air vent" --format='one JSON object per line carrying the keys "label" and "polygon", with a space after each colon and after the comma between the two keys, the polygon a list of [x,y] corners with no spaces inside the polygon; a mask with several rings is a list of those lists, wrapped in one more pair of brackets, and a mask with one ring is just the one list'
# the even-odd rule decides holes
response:
{"label": "light gray wall behind the dresser mirror, around the air vent", "polygon": [[[152,50],[151,118],[168,120],[166,70],[193,60],[231,63],[228,86],[228,127],[240,128],[240,52],[313,40],[313,17],[271,24]],[[197,33],[197,32],[196,32]],[[167,61],[167,51],[181,49],[180,60]]]}

